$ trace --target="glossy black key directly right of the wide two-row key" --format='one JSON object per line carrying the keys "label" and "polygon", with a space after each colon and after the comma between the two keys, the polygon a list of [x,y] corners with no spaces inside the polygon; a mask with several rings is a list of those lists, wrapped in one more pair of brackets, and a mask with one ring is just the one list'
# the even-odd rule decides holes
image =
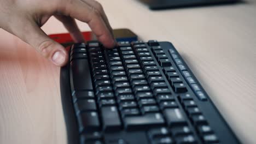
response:
{"label": "glossy black key directly right of the wide two-row key", "polygon": [[179,109],[165,109],[164,116],[166,118],[167,124],[171,127],[178,124],[186,124],[186,118]]}

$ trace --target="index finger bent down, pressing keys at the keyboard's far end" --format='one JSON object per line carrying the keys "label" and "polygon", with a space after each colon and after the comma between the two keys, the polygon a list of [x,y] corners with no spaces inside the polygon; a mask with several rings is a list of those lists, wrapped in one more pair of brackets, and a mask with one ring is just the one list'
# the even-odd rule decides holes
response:
{"label": "index finger bent down, pressing keys at the keyboard's far end", "polygon": [[101,17],[100,11],[94,7],[91,7],[82,1],[74,0],[68,1],[68,3],[63,5],[60,12],[63,15],[71,16],[88,23],[92,32],[94,32],[97,39],[101,41],[105,47],[112,48],[116,45],[111,32]]}

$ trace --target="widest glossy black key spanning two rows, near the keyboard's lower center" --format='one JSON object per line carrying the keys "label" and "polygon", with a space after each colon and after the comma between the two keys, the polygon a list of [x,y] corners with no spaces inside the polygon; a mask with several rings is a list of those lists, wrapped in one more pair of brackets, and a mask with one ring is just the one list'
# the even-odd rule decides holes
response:
{"label": "widest glossy black key spanning two rows, near the keyboard's lower center", "polygon": [[165,124],[161,113],[148,113],[143,116],[132,116],[124,118],[125,129],[148,129],[149,127],[159,127]]}

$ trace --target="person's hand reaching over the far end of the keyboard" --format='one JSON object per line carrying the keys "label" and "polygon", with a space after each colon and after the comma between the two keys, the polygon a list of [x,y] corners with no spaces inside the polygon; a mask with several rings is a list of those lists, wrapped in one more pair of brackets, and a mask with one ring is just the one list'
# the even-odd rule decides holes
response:
{"label": "person's hand reaching over the far end of the keyboard", "polygon": [[67,63],[68,53],[40,29],[55,16],[71,33],[75,42],[83,41],[74,19],[88,23],[101,43],[115,45],[112,28],[100,3],[95,0],[0,0],[0,27],[33,46],[56,65]]}

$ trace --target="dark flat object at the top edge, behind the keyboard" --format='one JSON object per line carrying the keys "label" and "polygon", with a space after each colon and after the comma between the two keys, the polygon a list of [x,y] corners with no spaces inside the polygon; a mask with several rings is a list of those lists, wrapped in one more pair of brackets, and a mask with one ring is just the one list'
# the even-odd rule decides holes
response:
{"label": "dark flat object at the top edge, behind the keyboard", "polygon": [[167,9],[200,6],[209,4],[231,3],[237,0],[139,0],[149,5],[150,9]]}

